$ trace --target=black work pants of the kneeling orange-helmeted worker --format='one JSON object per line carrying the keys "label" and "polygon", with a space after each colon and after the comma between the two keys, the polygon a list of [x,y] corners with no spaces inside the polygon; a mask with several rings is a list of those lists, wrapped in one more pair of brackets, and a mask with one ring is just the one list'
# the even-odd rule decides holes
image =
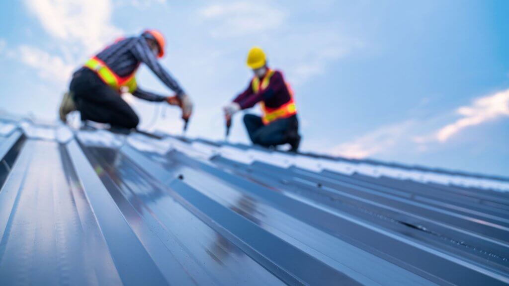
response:
{"label": "black work pants of the kneeling orange-helmeted worker", "polygon": [[95,72],[87,68],[78,70],[74,73],[69,90],[82,121],[109,123],[111,126],[128,129],[138,126],[138,116],[131,106]]}

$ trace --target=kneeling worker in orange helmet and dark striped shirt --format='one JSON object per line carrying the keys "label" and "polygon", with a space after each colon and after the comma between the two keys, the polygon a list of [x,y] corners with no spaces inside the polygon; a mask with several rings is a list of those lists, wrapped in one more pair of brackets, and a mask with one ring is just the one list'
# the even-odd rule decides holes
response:
{"label": "kneeling worker in orange helmet and dark striped shirt", "polygon": [[[67,114],[77,109],[82,121],[108,123],[119,129],[136,128],[138,116],[121,97],[130,93],[144,100],[181,107],[182,118],[187,123],[192,102],[158,62],[164,55],[164,46],[164,38],[156,30],[121,38],[107,46],[73,74],[70,92],[64,95],[60,106],[61,120],[65,122]],[[134,76],[140,63],[146,64],[175,95],[162,96],[139,88]]]}

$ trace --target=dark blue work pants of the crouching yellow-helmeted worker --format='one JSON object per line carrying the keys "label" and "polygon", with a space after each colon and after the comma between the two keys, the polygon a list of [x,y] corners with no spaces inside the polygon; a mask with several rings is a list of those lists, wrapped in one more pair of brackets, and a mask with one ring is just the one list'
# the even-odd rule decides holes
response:
{"label": "dark blue work pants of the crouching yellow-helmeted worker", "polygon": [[299,128],[297,116],[278,119],[264,125],[261,117],[246,114],[244,124],[253,144],[263,147],[288,143],[290,138],[297,136]]}

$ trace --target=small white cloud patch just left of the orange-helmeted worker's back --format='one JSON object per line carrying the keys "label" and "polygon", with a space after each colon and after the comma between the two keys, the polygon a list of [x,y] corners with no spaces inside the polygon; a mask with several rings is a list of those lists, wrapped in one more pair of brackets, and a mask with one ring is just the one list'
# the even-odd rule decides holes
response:
{"label": "small white cloud patch just left of the orange-helmeted worker's back", "polygon": [[36,69],[41,78],[54,82],[67,81],[75,68],[73,65],[66,64],[59,56],[50,55],[35,47],[20,46],[18,55],[19,60]]}

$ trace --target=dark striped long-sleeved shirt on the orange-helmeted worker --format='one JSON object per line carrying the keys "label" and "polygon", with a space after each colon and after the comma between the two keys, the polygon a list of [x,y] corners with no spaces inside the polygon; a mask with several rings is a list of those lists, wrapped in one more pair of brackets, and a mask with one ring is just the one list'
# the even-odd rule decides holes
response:
{"label": "dark striped long-sleeved shirt on the orange-helmeted worker", "polygon": [[[180,97],[184,94],[179,83],[161,66],[147,40],[142,36],[121,39],[99,52],[97,58],[121,77],[130,75],[140,63],[144,63],[177,96]],[[133,95],[149,101],[164,101],[166,99],[165,96],[144,91],[139,87]]]}

